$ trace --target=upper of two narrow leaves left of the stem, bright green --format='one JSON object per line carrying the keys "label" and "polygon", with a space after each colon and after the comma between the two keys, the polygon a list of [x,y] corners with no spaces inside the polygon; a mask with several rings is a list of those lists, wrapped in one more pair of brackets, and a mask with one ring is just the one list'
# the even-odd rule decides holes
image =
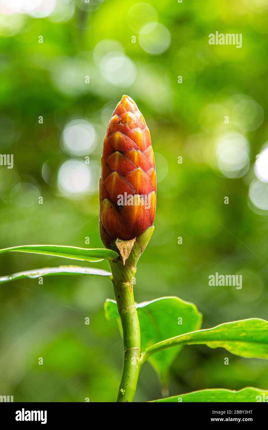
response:
{"label": "upper of two narrow leaves left of the stem, bright green", "polygon": [[105,248],[77,248],[77,246],[61,245],[22,245],[13,246],[12,248],[0,249],[3,252],[31,252],[35,254],[53,255],[55,257],[72,258],[73,260],[82,261],[102,261],[114,260],[119,257],[117,252]]}

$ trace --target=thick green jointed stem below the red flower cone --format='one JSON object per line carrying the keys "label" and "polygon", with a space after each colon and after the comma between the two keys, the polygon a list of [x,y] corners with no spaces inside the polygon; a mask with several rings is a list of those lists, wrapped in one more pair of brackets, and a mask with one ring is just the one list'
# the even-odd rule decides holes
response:
{"label": "thick green jointed stem below the red flower cone", "polygon": [[123,329],[123,371],[117,402],[132,402],[140,372],[141,337],[134,303],[133,279],[136,268],[122,261],[111,263],[114,295]]}

